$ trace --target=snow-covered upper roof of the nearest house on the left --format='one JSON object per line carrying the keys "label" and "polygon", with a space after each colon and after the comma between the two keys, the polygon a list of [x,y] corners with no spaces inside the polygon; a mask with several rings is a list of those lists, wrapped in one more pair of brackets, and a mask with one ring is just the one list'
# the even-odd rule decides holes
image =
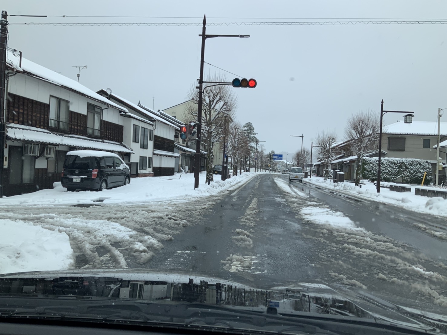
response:
{"label": "snow-covered upper roof of the nearest house on the left", "polygon": [[102,102],[105,105],[113,106],[118,110],[127,112],[127,109],[125,109],[124,107],[121,107],[120,105],[113,103],[104,96],[101,96],[96,92],[92,91],[90,88],[87,88],[84,85],[78,83],[76,80],[72,80],[64,75],[61,75],[55,71],[43,67],[42,65],[31,62],[26,58],[22,57],[22,64],[20,67],[19,57],[16,57],[10,50],[8,50],[6,54],[6,63],[10,67],[15,68],[19,72],[24,72],[27,75],[33,76],[40,80],[45,80],[51,84],[63,88],[67,88],[68,90],[80,93],[83,96],[88,96],[92,100]]}

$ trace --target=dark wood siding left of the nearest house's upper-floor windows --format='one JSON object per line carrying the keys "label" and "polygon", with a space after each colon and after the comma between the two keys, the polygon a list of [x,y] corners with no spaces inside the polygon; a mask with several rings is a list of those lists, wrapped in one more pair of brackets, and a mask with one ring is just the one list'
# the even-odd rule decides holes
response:
{"label": "dark wood siding left of the nearest house's upper-floor windows", "polygon": [[48,129],[50,105],[8,93],[6,121],[19,125]]}

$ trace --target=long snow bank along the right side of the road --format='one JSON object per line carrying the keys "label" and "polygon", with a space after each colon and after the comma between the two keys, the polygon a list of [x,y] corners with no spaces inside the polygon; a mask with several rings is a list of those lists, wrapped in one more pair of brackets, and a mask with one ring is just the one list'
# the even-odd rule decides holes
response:
{"label": "long snow bank along the right side of the road", "polygon": [[380,188],[380,193],[377,193],[375,185],[370,182],[367,182],[366,185],[362,185],[362,188],[355,186],[354,183],[333,183],[332,180],[324,180],[320,177],[312,177],[312,179],[306,179],[305,182],[310,184],[318,184],[329,189],[335,189],[339,192],[364,200],[371,199],[374,201],[397,205],[419,213],[447,216],[447,199],[443,199],[441,197],[429,198],[415,195],[414,188],[420,186],[411,185],[411,192],[400,193],[390,191],[388,188]]}

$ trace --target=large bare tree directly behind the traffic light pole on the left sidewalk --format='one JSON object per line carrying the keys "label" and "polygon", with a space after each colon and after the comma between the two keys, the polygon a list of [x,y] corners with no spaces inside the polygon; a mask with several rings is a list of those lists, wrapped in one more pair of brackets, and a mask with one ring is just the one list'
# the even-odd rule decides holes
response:
{"label": "large bare tree directly behind the traffic light pole on the left sidewalk", "polygon": [[[224,75],[218,73],[208,74],[205,80],[228,81]],[[187,98],[198,101],[198,91],[194,84],[191,86]],[[207,145],[207,183],[213,181],[214,146],[223,141],[227,118],[234,116],[236,107],[237,97],[229,86],[206,84],[202,95],[202,120],[197,120],[197,105],[191,104],[186,111],[189,119],[202,122],[202,142]]]}

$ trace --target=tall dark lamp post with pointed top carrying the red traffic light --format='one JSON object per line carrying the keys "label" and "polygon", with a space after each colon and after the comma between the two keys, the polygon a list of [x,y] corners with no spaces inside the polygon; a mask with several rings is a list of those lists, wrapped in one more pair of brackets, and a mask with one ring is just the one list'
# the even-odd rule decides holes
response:
{"label": "tall dark lamp post with pointed top carrying the red traffic light", "polygon": [[197,106],[197,140],[196,140],[196,154],[194,162],[194,188],[198,188],[200,175],[200,143],[202,139],[202,94],[203,94],[203,65],[205,63],[205,41],[207,38],[215,37],[237,37],[248,38],[250,35],[207,35],[207,17],[203,16],[202,34],[202,48],[200,51],[200,76],[198,80],[198,106]]}

